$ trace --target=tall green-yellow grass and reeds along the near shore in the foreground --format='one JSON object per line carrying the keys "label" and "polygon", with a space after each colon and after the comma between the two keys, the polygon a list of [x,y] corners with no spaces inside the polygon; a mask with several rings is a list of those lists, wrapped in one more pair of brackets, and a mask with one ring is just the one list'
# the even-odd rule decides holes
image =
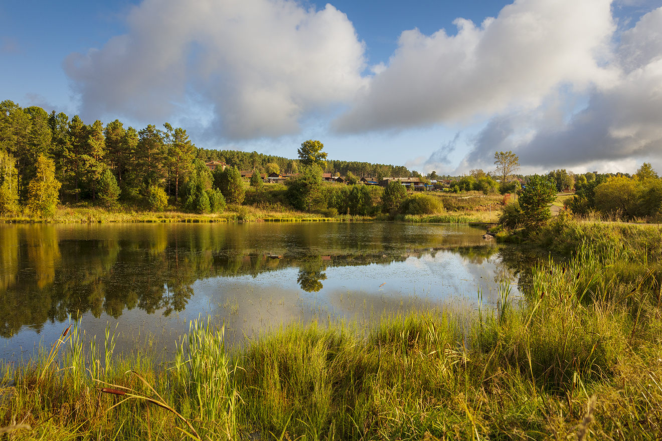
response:
{"label": "tall green-yellow grass and reeds along the near shore in the foreground", "polygon": [[202,320],[169,364],[73,330],[2,366],[0,422],[30,426],[12,439],[655,439],[659,229],[563,228],[572,257],[525,272],[523,299],[502,285],[496,309],[293,323],[242,348]]}

